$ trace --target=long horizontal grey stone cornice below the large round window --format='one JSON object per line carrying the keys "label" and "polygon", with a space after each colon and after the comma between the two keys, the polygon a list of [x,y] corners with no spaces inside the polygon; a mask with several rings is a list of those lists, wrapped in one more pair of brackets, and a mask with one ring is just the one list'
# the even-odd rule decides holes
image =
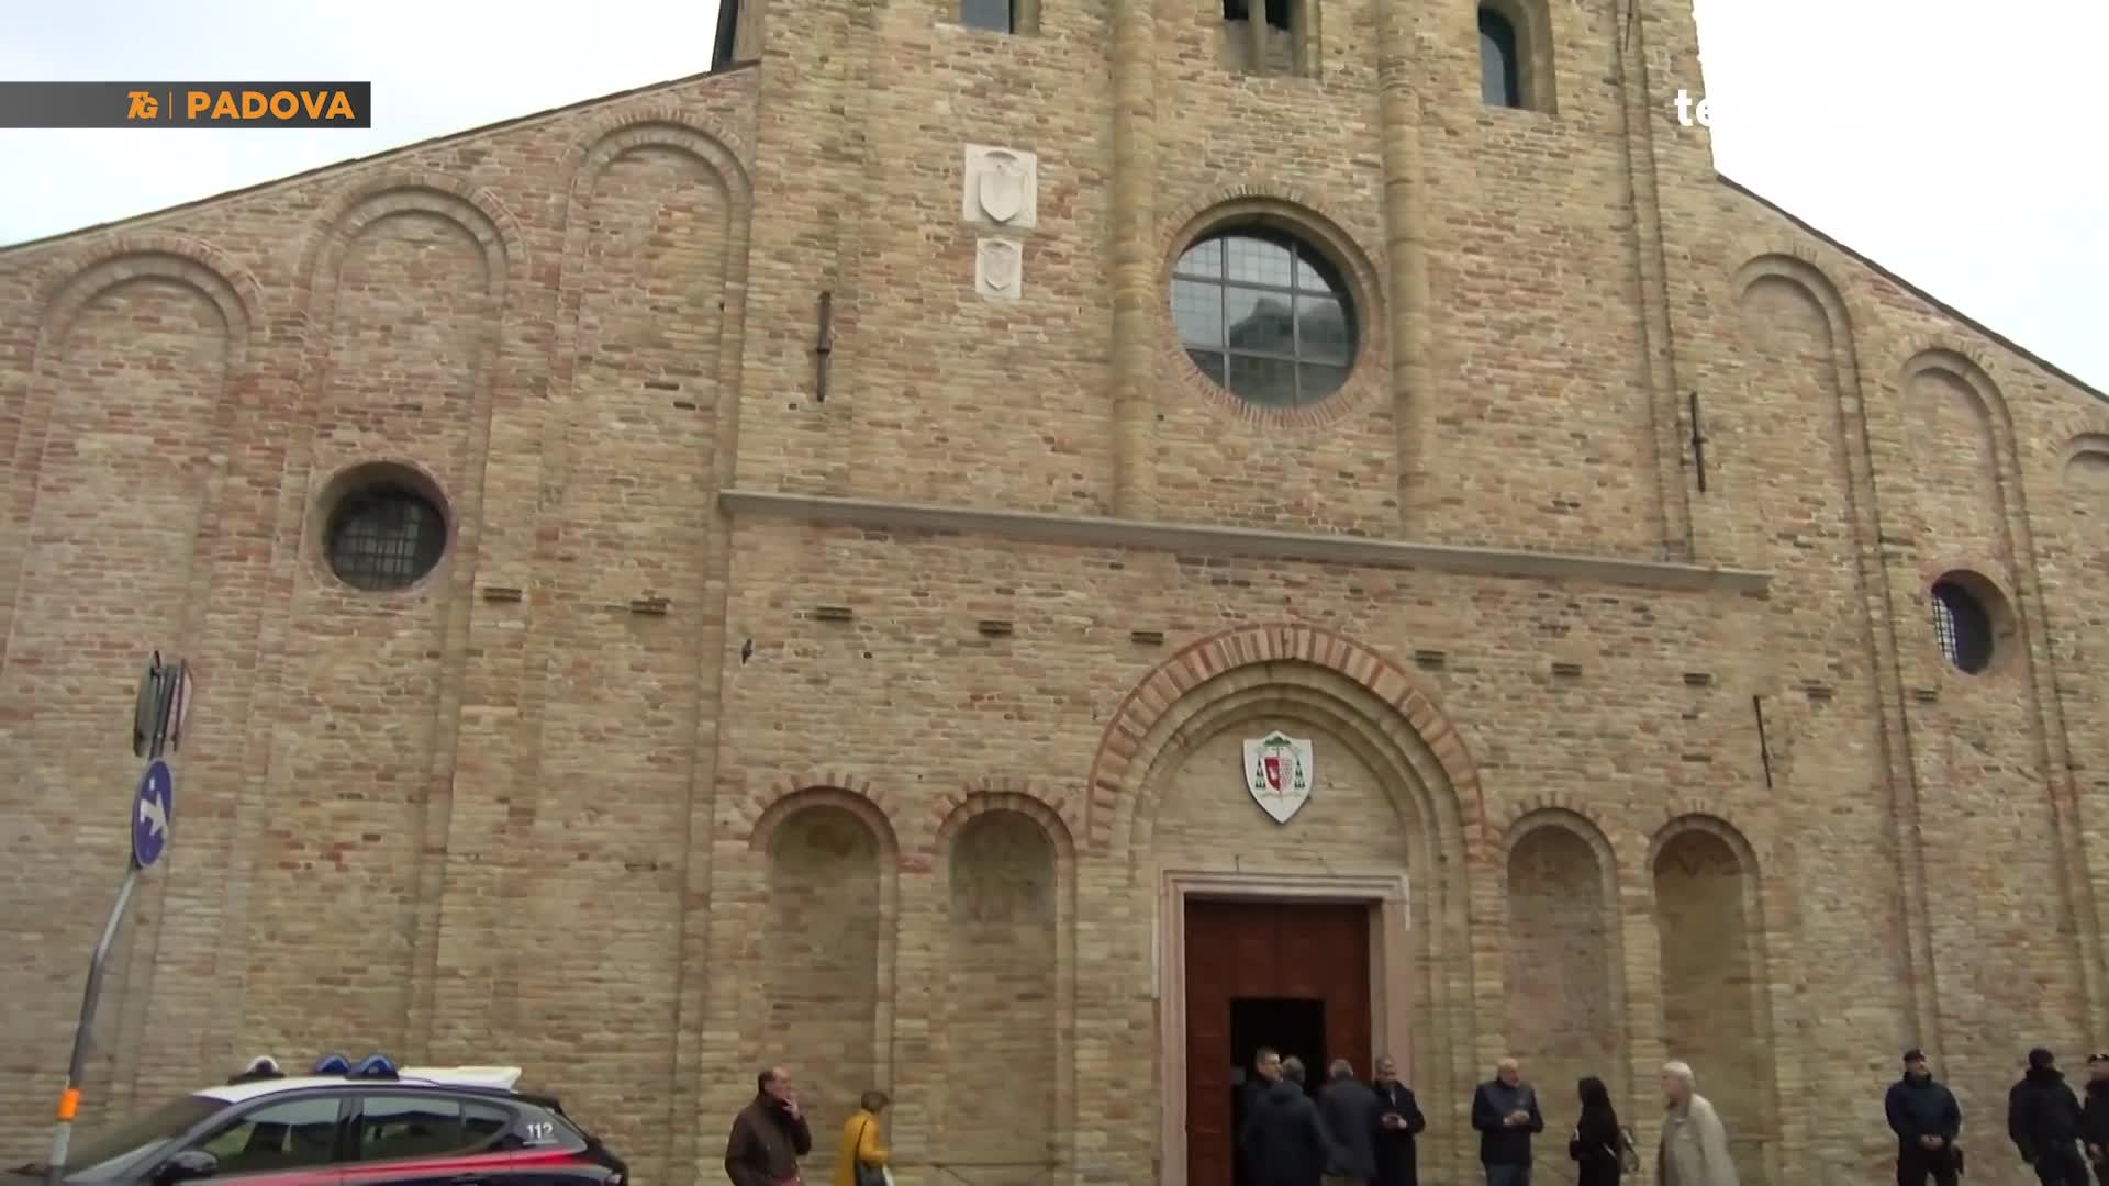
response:
{"label": "long horizontal grey stone cornice below the large round window", "polygon": [[884,532],[951,532],[1046,544],[1272,557],[1308,563],[1352,563],[1358,568],[1426,568],[1468,576],[1597,580],[1603,585],[1641,585],[1651,589],[1691,589],[1713,593],[1767,593],[1772,589],[1769,572],[1744,568],[1706,568],[1696,563],[1542,553],[1525,549],[1424,544],[1409,540],[1373,540],[1365,536],[1320,536],[1305,532],[1270,532],[1259,528],[1111,519],[1103,515],[1048,515],[1040,511],[934,506],[922,502],[831,498],[820,494],[785,494],[770,490],[721,490],[717,494],[717,504],[732,515],[799,519],[808,523],[835,523]]}

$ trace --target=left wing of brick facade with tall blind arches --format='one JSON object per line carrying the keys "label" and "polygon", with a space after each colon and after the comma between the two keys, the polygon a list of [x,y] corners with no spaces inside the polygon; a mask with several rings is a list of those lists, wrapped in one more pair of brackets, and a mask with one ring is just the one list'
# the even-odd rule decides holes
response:
{"label": "left wing of brick facade with tall blind arches", "polygon": [[[498,1055],[666,1156],[753,80],[0,264],[11,1150],[44,1135],[162,648],[200,688],[181,838],[112,967],[89,1116],[259,1051]],[[331,483],[371,462],[456,517],[418,589],[321,561]]]}

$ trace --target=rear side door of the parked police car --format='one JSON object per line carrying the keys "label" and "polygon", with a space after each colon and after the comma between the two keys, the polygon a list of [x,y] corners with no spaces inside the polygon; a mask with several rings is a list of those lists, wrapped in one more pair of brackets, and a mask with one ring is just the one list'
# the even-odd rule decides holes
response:
{"label": "rear side door of the parked police car", "polygon": [[500,1186],[517,1150],[512,1110],[445,1091],[365,1091],[340,1186]]}

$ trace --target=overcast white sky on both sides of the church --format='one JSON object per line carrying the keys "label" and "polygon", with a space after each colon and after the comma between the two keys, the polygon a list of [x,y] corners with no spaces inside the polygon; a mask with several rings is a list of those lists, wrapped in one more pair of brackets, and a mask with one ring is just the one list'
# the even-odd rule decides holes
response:
{"label": "overcast white sky on both sides of the church", "polygon": [[[1706,78],[1685,84],[1719,108],[1723,173],[2109,390],[2109,2],[1696,2]],[[715,0],[21,0],[0,78],[373,80],[375,118],[0,131],[0,243],[696,74],[715,17]]]}

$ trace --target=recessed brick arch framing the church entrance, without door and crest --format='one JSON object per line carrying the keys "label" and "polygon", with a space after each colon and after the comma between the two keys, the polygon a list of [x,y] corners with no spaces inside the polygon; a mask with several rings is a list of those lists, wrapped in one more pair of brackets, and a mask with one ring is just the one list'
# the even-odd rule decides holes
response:
{"label": "recessed brick arch framing the church entrance, without door and crest", "polygon": [[[1225,817],[1257,810],[1238,791],[1234,760],[1240,734],[1251,739],[1255,732],[1244,730],[1257,728],[1282,728],[1320,747],[1316,793],[1329,798],[1312,800],[1286,825]],[[1329,762],[1337,781],[1327,774]],[[1464,739],[1381,652],[1303,625],[1238,627],[1198,639],[1116,705],[1090,796],[1090,850],[1116,861],[1130,893],[1154,899],[1135,916],[1147,933],[1130,941],[1164,960],[1158,975],[1166,1000],[1185,1000],[1187,992],[1192,886],[1242,886],[1232,897],[1381,899],[1384,939],[1373,937],[1373,956],[1381,950],[1386,960],[1381,1040],[1419,1080],[1470,1091],[1468,1076],[1491,1057],[1478,1045],[1493,1040],[1487,1024],[1499,1013],[1499,950],[1472,941],[1499,926],[1497,848],[1487,838]],[[1379,829],[1367,812],[1386,808],[1396,819]],[[1346,821],[1371,825],[1348,850],[1299,857],[1295,827],[1337,829]],[[1217,853],[1223,842],[1240,853],[1236,869]],[[1166,1165],[1183,1165],[1183,1013],[1160,1019],[1158,1034],[1164,1156]]]}

